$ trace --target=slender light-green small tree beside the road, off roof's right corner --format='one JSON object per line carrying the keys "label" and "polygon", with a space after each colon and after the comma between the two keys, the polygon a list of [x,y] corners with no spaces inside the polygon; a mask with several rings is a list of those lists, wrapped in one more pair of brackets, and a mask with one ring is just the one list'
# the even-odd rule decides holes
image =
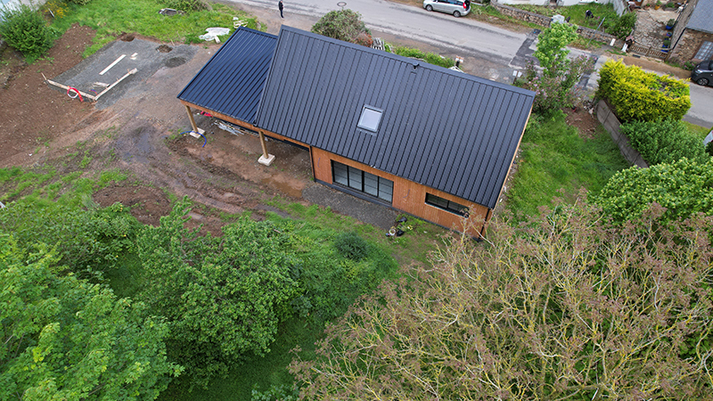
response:
{"label": "slender light-green small tree beside the road, off roof's right corner", "polygon": [[537,50],[532,55],[540,61],[545,77],[558,77],[570,66],[567,54],[570,45],[577,39],[577,29],[567,23],[553,23],[537,36]]}

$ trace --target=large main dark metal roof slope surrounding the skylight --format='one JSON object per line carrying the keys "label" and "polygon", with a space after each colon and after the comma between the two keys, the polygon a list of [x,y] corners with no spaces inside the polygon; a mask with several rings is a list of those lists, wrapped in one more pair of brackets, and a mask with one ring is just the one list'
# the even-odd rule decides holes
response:
{"label": "large main dark metal roof slope surrounding the skylight", "polygon": [[[283,25],[257,125],[493,209],[533,99]],[[383,110],[376,133],[356,127],[365,105]]]}

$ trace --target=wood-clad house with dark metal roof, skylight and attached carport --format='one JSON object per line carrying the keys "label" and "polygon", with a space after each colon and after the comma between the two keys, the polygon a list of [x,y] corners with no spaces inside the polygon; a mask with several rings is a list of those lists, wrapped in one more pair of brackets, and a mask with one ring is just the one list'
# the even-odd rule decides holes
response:
{"label": "wood-clad house with dark metal roof, skylight and attached carport", "polygon": [[178,95],[306,148],[317,182],[448,228],[492,217],[534,93],[283,26],[238,29]]}

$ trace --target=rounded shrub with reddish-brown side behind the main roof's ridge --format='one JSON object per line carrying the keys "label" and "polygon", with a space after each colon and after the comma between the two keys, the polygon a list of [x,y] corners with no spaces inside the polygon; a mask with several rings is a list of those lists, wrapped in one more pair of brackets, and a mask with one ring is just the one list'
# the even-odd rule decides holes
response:
{"label": "rounded shrub with reddish-brown side behind the main roof's ridge", "polygon": [[312,26],[312,32],[357,45],[372,45],[372,35],[361,20],[361,14],[349,9],[327,12]]}

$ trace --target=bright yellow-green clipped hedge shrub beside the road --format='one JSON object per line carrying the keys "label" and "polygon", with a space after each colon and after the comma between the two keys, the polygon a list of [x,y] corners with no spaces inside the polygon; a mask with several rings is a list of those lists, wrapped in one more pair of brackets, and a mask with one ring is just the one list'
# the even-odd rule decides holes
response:
{"label": "bright yellow-green clipped hedge shrub beside the road", "polygon": [[599,70],[597,97],[606,99],[624,121],[679,120],[691,108],[688,86],[621,61],[607,61]]}

